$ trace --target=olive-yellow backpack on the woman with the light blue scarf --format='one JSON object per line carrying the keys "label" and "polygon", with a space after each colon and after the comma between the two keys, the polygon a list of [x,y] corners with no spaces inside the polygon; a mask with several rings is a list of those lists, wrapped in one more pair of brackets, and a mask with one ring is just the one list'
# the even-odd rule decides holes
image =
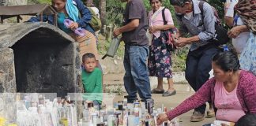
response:
{"label": "olive-yellow backpack on the woman with the light blue scarf", "polygon": [[101,20],[96,16],[96,13],[92,10],[92,8],[88,7],[90,12],[92,13],[92,19],[89,24],[92,26],[94,31],[98,31],[101,28]]}

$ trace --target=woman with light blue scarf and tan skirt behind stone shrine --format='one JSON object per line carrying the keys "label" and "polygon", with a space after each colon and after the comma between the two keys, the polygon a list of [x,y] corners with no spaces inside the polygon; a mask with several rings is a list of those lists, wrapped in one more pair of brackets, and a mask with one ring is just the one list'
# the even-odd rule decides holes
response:
{"label": "woman with light blue scarf and tan skirt behind stone shrine", "polygon": [[[51,4],[58,13],[58,28],[65,31],[79,43],[81,56],[85,53],[95,54],[97,66],[100,67],[95,31],[89,24],[89,21],[92,19],[90,10],[83,4],[83,2],[81,2],[81,0],[51,0]],[[49,24],[54,24],[53,19],[53,16],[43,16],[43,21],[48,21]],[[69,27],[66,27],[64,24],[64,20],[66,19],[72,20]],[[32,17],[28,20],[28,22],[38,21],[40,21],[40,17]],[[74,33],[74,30],[77,28],[83,28],[82,32],[84,36]]]}

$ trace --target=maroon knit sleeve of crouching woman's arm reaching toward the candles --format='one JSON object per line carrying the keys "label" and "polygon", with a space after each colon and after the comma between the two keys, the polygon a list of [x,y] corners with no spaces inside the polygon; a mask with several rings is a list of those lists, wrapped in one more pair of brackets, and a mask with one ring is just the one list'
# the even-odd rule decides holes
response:
{"label": "maroon knit sleeve of crouching woman's arm reaching toward the candles", "polygon": [[[211,100],[211,88],[213,88],[213,82],[214,79],[210,79],[206,81],[203,86],[190,98],[187,98],[185,101],[183,101],[179,106],[177,106],[175,109],[172,109],[167,113],[168,119],[172,120],[175,117],[178,117],[179,115],[188,112],[190,109],[197,108],[198,106],[201,106],[205,102],[208,102]],[[214,92],[213,92],[214,93]]]}

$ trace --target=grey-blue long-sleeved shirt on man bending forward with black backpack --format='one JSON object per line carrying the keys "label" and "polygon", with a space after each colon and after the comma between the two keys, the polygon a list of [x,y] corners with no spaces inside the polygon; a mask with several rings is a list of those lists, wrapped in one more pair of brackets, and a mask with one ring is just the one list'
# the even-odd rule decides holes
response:
{"label": "grey-blue long-sleeved shirt on man bending forward with black backpack", "polygon": [[193,2],[193,15],[190,19],[187,17],[178,17],[179,31],[183,33],[189,32],[190,35],[198,35],[199,43],[192,43],[190,51],[197,50],[199,46],[205,46],[209,43],[209,39],[212,39],[215,34],[215,22],[213,8],[207,2],[203,5],[204,19],[202,19],[201,10],[199,9],[199,2],[192,0]]}

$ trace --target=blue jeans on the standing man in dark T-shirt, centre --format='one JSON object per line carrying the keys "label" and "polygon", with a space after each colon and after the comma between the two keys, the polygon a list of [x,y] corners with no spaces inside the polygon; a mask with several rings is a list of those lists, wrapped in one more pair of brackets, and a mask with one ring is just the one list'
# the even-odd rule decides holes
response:
{"label": "blue jeans on the standing man in dark T-shirt, centre", "polygon": [[125,46],[123,65],[126,74],[123,77],[123,81],[128,93],[128,102],[136,100],[136,93],[142,100],[151,98],[149,72],[146,62],[148,56],[148,46]]}

